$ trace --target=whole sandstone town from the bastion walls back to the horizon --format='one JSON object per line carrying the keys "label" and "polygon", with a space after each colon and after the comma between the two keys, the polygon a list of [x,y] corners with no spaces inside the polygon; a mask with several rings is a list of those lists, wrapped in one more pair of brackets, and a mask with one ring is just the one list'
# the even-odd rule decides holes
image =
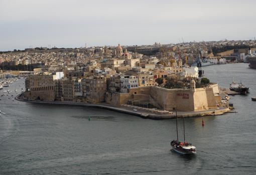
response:
{"label": "whole sandstone town from the bastion walls back to the horizon", "polygon": [[[30,48],[2,53],[0,65],[27,77],[25,100],[131,109],[140,106],[168,114],[174,109],[228,108],[218,85],[204,77],[203,66],[244,62],[245,53],[254,45],[254,41],[225,40],[139,47]],[[223,50],[226,46],[239,49]],[[223,52],[213,53],[215,50]]]}

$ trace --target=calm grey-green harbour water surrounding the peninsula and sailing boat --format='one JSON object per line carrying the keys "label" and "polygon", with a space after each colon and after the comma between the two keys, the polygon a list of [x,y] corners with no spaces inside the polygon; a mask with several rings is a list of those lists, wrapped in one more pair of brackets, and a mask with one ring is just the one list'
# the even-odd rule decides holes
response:
{"label": "calm grey-green harbour water surrounding the peninsula and sailing boat", "polygon": [[[247,96],[231,97],[238,113],[205,116],[204,127],[201,117],[185,119],[195,156],[170,151],[176,138],[173,119],[19,102],[13,99],[24,88],[21,79],[4,88],[11,94],[0,97],[0,174],[254,174],[256,102],[250,98],[256,96],[256,70],[247,67],[204,68],[221,87],[228,88],[234,77],[251,89]],[[181,121],[179,126],[182,137]]]}

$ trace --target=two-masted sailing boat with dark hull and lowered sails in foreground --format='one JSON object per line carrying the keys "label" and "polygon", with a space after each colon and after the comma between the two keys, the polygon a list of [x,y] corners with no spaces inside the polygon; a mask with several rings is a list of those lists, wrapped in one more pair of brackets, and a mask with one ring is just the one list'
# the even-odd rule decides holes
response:
{"label": "two-masted sailing boat with dark hull and lowered sails in foreground", "polygon": [[[176,109],[176,108],[175,108]],[[178,122],[177,122],[177,109],[176,109],[176,130],[177,130],[177,140],[171,141],[171,146],[173,150],[181,154],[195,154],[196,147],[193,146],[191,143],[185,141],[185,122],[183,117],[183,133],[184,133],[184,142],[179,141],[178,137]]]}

